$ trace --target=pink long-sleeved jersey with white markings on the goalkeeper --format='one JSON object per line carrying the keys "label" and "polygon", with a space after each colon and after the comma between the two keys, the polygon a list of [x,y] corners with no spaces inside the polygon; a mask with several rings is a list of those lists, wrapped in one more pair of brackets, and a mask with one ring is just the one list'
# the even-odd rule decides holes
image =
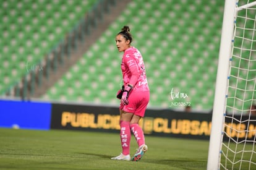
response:
{"label": "pink long-sleeved jersey with white markings on the goalkeeper", "polygon": [[122,56],[122,78],[124,85],[134,85],[134,91],[149,91],[142,54],[135,47],[124,51]]}

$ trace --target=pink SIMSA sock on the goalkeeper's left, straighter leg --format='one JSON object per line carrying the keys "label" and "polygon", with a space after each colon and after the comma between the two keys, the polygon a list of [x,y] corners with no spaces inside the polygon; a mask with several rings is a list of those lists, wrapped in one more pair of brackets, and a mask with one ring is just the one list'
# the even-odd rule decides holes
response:
{"label": "pink SIMSA sock on the goalkeeper's left, straighter leg", "polygon": [[120,121],[120,137],[122,145],[122,154],[130,154],[130,122]]}

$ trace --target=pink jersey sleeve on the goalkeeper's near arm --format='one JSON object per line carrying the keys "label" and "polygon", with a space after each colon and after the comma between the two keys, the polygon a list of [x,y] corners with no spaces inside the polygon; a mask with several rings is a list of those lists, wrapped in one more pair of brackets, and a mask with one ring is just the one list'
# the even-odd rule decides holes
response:
{"label": "pink jersey sleeve on the goalkeeper's near arm", "polygon": [[131,74],[129,84],[135,85],[140,77],[140,69],[136,59],[134,58],[134,54],[129,52],[124,56],[124,63],[129,68]]}

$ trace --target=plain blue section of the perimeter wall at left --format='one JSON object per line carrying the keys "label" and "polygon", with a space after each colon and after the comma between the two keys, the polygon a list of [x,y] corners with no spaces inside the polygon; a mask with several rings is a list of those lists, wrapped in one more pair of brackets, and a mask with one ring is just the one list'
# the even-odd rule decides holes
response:
{"label": "plain blue section of the perimeter wall at left", "polygon": [[49,130],[51,103],[0,100],[0,127]]}

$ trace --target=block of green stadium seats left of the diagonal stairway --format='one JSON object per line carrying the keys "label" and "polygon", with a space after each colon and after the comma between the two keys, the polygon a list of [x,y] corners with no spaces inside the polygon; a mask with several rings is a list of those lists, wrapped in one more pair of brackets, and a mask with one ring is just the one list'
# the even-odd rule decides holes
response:
{"label": "block of green stadium seats left of the diagonal stairway", "polygon": [[[0,68],[5,69],[5,74],[0,95],[28,74],[24,64],[38,65],[93,4],[93,0],[2,1]],[[23,66],[20,66],[22,63]],[[15,76],[13,73],[16,73]]]}

